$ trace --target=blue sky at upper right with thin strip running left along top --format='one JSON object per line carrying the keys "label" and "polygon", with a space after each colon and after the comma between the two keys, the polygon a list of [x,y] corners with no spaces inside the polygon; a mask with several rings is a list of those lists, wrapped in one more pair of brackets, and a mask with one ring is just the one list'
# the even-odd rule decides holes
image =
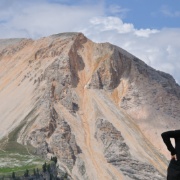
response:
{"label": "blue sky at upper right with thin strip running left along top", "polygon": [[[121,17],[136,28],[180,27],[179,0],[48,0],[49,3],[72,5],[101,4],[106,15]],[[114,11],[113,11],[114,10]]]}

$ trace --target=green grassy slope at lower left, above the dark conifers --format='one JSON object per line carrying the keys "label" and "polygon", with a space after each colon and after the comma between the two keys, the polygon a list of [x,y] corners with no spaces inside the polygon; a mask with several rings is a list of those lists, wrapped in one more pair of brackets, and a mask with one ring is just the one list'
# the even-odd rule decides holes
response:
{"label": "green grassy slope at lower left, above the dark conifers", "polygon": [[[23,127],[28,128],[36,118],[33,109],[7,137],[0,140],[0,175],[9,174],[13,171],[24,173],[26,169],[41,168],[44,160],[34,154],[31,145],[22,145],[17,142],[19,132]],[[33,117],[33,118],[32,118]],[[28,119],[30,119],[28,121]],[[2,164],[2,162],[5,162]]]}

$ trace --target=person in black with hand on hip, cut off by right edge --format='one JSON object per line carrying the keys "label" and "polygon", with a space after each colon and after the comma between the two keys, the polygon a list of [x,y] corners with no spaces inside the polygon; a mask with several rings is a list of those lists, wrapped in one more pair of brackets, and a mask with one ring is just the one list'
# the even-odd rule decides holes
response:
{"label": "person in black with hand on hip, cut off by right edge", "polygon": [[[163,132],[161,136],[171,153],[171,161],[167,169],[167,180],[180,180],[180,130]],[[170,138],[174,138],[175,147],[172,145]]]}

